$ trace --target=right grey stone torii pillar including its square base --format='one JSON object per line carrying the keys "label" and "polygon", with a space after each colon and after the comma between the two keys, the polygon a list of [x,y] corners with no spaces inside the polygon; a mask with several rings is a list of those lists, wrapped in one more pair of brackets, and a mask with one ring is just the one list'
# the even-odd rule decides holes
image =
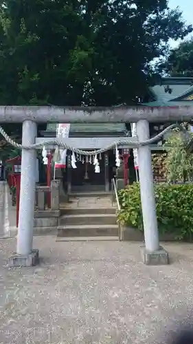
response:
{"label": "right grey stone torii pillar including its square base", "polygon": [[[136,127],[139,142],[149,140],[148,120],[139,120]],[[138,164],[145,237],[145,247],[141,248],[141,255],[147,265],[168,264],[168,252],[159,246],[150,146],[138,148]]]}

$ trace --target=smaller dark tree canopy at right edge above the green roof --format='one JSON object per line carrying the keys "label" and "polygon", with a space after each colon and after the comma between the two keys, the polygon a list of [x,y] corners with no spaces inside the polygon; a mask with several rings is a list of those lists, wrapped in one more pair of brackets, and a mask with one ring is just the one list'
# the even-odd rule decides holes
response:
{"label": "smaller dark tree canopy at right edge above the green roof", "polygon": [[159,68],[170,76],[193,76],[193,37],[171,50],[165,63]]}

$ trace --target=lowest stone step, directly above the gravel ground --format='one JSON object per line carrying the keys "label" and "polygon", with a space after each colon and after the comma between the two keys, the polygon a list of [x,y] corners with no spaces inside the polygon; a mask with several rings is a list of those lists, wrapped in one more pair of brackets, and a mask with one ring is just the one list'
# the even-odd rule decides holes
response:
{"label": "lowest stone step, directly above the gravel ground", "polygon": [[87,224],[58,226],[58,237],[103,237],[118,236],[117,224]]}

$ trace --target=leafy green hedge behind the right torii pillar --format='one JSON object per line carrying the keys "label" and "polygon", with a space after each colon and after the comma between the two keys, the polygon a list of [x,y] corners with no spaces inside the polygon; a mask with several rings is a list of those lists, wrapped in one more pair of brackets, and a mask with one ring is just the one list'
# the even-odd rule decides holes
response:
{"label": "leafy green hedge behind the right torii pillar", "polygon": [[[155,197],[159,233],[173,233],[176,239],[192,241],[193,185],[157,184]],[[139,183],[119,191],[119,199],[120,222],[143,230]]]}

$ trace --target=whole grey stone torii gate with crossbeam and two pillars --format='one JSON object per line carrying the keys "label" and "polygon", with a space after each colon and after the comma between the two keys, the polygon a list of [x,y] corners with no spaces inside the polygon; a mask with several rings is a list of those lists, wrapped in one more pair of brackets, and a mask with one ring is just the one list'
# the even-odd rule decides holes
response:
{"label": "whole grey stone torii gate with crossbeam and two pillars", "polygon": [[[159,246],[156,204],[152,176],[149,122],[183,122],[193,118],[193,107],[0,107],[0,123],[23,123],[22,145],[36,142],[37,123],[42,122],[137,122],[137,141],[130,148],[138,148],[141,208],[144,222],[145,264],[168,264],[168,252]],[[8,138],[7,138],[8,139]],[[131,138],[128,138],[131,142]],[[113,142],[112,142],[113,143]],[[146,142],[147,143],[147,142]],[[136,146],[138,144],[138,146]],[[32,266],[38,260],[38,250],[32,250],[34,198],[36,186],[36,150],[22,149],[21,197],[16,255],[10,266]]]}

